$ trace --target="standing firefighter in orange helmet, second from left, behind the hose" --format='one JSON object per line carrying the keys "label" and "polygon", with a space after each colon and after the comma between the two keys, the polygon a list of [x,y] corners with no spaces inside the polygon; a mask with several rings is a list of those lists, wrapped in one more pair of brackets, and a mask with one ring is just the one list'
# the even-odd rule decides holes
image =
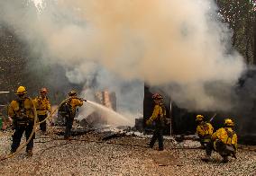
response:
{"label": "standing firefighter in orange helmet, second from left, behind the hose", "polygon": [[[50,112],[50,101],[46,96],[48,93],[45,87],[41,88],[40,96],[37,96],[33,101],[37,111],[37,117],[39,121],[43,121],[47,118],[48,113]],[[43,121],[40,124],[40,129],[43,134],[46,134],[46,121]]]}

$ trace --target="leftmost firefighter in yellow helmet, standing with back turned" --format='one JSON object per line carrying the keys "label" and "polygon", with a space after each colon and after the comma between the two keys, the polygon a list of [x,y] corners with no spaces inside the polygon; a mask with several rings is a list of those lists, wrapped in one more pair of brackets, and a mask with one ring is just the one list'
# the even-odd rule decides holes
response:
{"label": "leftmost firefighter in yellow helmet, standing with back turned", "polygon": [[[10,154],[14,154],[19,147],[23,132],[25,132],[26,140],[32,134],[35,115],[33,112],[33,102],[25,96],[26,93],[25,87],[19,86],[15,93],[18,98],[12,101],[8,108],[8,115],[13,119],[14,126],[13,144],[11,145]],[[33,138],[34,134],[26,147],[28,156],[32,156]]]}

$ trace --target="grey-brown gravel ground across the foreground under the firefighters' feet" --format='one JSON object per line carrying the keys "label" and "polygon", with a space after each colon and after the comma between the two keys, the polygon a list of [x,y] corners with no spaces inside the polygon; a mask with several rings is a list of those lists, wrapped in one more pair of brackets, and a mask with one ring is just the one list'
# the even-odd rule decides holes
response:
{"label": "grey-brown gravel ground across the foreground under the firefighters' feet", "polygon": [[[11,132],[0,132],[3,156],[10,150]],[[76,136],[79,140],[52,140],[37,134],[33,156],[27,158],[21,152],[14,158],[0,163],[0,175],[256,175],[256,152],[239,150],[237,160],[221,163],[221,157],[213,154],[210,163],[200,160],[205,152],[200,149],[180,149],[197,142],[174,144],[165,140],[166,150],[159,152],[146,148],[149,138],[123,136],[102,141],[100,134],[90,132]],[[52,136],[51,136],[52,137]],[[61,136],[53,136],[61,137]],[[140,146],[132,146],[140,145]],[[178,147],[179,149],[172,149]]]}

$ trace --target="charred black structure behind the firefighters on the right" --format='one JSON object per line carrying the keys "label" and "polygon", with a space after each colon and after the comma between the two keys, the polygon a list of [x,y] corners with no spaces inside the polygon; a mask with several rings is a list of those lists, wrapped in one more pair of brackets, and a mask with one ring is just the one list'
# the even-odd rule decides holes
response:
{"label": "charred black structure behind the firefighters on the right", "polygon": [[[239,137],[239,143],[256,144],[256,69],[250,68],[244,73],[239,82],[233,86],[232,100],[233,109],[228,111],[191,111],[181,107],[171,101],[169,96],[165,95],[165,105],[168,110],[168,118],[171,119],[170,130],[166,129],[166,135],[171,132],[173,135],[192,135],[195,134],[197,124],[195,118],[197,114],[203,114],[206,120],[215,118],[211,121],[214,128],[223,127],[224,119],[231,118],[235,122],[235,131]],[[143,125],[150,118],[153,109],[153,101],[151,99],[151,87],[144,87],[143,102]],[[216,115],[215,115],[216,114]],[[144,125],[145,131],[148,128]]]}

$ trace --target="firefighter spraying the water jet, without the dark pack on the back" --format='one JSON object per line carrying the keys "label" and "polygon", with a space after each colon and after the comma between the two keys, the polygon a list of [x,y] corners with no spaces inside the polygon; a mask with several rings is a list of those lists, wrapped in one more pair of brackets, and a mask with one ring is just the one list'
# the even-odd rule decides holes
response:
{"label": "firefighter spraying the water jet, without the dark pack on the back", "polygon": [[77,97],[77,92],[72,90],[71,92],[69,92],[69,101],[67,101],[67,104],[69,106],[69,110],[67,111],[66,116],[66,130],[64,138],[70,139],[71,128],[73,125],[73,120],[76,116],[77,107],[83,105],[83,99],[79,99]]}

